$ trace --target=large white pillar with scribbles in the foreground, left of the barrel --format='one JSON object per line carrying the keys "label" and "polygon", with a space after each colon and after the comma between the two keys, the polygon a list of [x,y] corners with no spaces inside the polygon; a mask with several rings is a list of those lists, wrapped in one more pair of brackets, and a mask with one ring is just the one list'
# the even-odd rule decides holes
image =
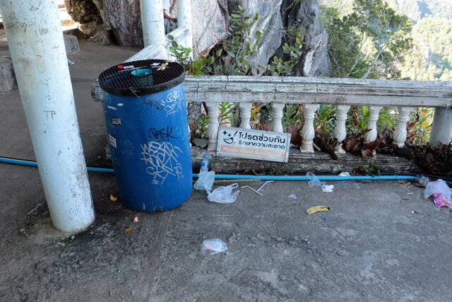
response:
{"label": "large white pillar with scribbles in the foreground, left of the barrel", "polygon": [[95,219],[57,2],[0,1],[8,46],[55,228]]}

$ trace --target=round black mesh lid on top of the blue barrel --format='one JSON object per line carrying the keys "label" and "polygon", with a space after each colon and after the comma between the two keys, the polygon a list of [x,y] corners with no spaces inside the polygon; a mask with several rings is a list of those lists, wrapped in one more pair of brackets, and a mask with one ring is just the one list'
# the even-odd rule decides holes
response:
{"label": "round black mesh lid on top of the blue barrel", "polygon": [[100,74],[99,85],[113,95],[139,96],[166,91],[182,83],[184,77],[181,64],[150,59],[110,67]]}

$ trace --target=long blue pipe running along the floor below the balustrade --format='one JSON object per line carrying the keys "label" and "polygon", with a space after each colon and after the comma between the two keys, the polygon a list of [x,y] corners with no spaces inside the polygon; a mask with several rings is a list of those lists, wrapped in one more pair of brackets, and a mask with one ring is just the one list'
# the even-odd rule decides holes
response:
{"label": "long blue pipe running along the floor below the balustrade", "polygon": [[[37,167],[35,161],[25,161],[23,159],[16,158],[4,158],[0,157],[0,163],[11,163],[13,165],[28,165],[31,167]],[[97,173],[114,173],[111,168],[97,168],[87,167],[88,172]],[[323,181],[340,181],[340,180],[418,180],[419,176],[412,175],[378,175],[378,176],[338,176],[338,175],[318,175],[316,178]],[[198,174],[193,174],[194,178],[198,178]],[[307,175],[227,175],[217,174],[215,179],[221,180],[312,180],[311,176]]]}

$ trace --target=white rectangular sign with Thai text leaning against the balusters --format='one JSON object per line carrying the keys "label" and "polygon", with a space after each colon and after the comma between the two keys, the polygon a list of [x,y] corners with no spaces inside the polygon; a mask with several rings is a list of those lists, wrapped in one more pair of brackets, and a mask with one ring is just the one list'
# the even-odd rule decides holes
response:
{"label": "white rectangular sign with Thai text leaning against the balusters", "polygon": [[262,161],[289,160],[290,133],[220,127],[217,153]]}

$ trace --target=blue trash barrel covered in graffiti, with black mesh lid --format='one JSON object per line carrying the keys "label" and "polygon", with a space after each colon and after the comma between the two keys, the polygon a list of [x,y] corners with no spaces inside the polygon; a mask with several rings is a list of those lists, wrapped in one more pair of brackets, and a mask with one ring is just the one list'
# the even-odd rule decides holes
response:
{"label": "blue trash barrel covered in graffiti, with black mesh lid", "polygon": [[105,70],[104,110],[121,200],[135,211],[165,211],[191,194],[184,69],[143,60]]}

